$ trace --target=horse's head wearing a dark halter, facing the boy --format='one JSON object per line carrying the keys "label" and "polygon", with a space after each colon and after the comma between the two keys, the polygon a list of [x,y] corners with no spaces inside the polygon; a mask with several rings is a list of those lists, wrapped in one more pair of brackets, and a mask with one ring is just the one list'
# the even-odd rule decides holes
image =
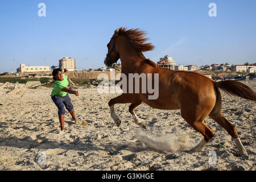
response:
{"label": "horse's head wearing a dark halter, facing the boy", "polygon": [[[115,34],[117,33],[117,30],[115,31]],[[112,67],[112,65],[114,63],[117,63],[119,57],[119,53],[117,52],[117,50],[115,49],[115,34],[113,35],[113,37],[110,39],[110,42],[108,43],[107,47],[108,47],[108,53],[106,54],[106,58],[104,60],[104,64],[107,67]]]}

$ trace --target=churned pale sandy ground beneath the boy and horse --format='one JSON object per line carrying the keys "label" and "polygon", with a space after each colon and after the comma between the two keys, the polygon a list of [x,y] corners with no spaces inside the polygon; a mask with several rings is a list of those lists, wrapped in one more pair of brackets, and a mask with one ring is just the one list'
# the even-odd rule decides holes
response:
{"label": "churned pale sandy ground beneath the boy and horse", "polygon": [[[256,81],[243,81],[256,90]],[[222,94],[222,113],[237,127],[248,156],[238,156],[230,135],[209,117],[216,135],[203,151],[189,154],[203,136],[181,118],[180,110],[159,110],[141,104],[135,110],[148,130],[133,122],[129,104],[115,105],[122,120],[113,126],[108,101],[119,94],[100,94],[79,87],[80,98],[69,94],[75,113],[87,126],[65,114],[60,132],[51,88],[28,89],[22,98],[0,89],[0,170],[250,170],[256,169],[255,103]],[[215,151],[216,164],[209,163]],[[39,164],[41,154],[45,163]]]}

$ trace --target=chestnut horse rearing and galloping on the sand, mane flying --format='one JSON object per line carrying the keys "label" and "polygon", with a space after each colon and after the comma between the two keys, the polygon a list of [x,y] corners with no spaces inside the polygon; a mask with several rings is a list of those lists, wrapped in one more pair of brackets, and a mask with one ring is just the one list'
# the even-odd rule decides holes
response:
{"label": "chestnut horse rearing and galloping on the sand, mane flying", "polygon": [[[118,127],[121,124],[121,120],[114,111],[115,104],[131,103],[129,111],[133,115],[134,122],[145,129],[147,129],[147,123],[139,119],[134,113],[135,107],[142,104],[142,102],[156,109],[180,109],[181,117],[204,136],[204,139],[190,150],[190,152],[197,152],[201,151],[204,145],[214,136],[214,132],[204,123],[204,119],[209,115],[231,135],[238,147],[238,154],[247,155],[238,137],[236,127],[221,113],[221,93],[219,89],[251,101],[256,101],[256,93],[247,85],[238,81],[215,82],[200,73],[172,71],[158,67],[153,61],[146,59],[142,53],[154,49],[151,43],[145,43],[147,38],[144,35],[146,35],[146,32],[138,28],[127,30],[127,28],[121,27],[115,30],[108,43],[108,54],[104,63],[107,67],[112,67],[120,58],[121,73],[127,77],[129,73],[158,73],[159,96],[155,100],[149,100],[150,93],[148,92],[124,92],[120,96],[111,99],[109,101],[110,115],[115,124]],[[142,86],[141,83],[139,86]],[[123,88],[121,87],[121,89]]]}

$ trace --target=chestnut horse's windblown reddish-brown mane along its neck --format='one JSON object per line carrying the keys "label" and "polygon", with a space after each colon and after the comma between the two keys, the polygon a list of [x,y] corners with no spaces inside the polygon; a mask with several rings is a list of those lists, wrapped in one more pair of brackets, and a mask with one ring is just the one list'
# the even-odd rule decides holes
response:
{"label": "chestnut horse's windblown reddish-brown mane along its neck", "polygon": [[155,48],[151,43],[145,43],[148,40],[145,38],[146,32],[139,30],[139,28],[127,30],[125,27],[120,27],[115,30],[112,39],[116,38],[118,35],[125,36],[131,45],[139,52],[151,51]]}

